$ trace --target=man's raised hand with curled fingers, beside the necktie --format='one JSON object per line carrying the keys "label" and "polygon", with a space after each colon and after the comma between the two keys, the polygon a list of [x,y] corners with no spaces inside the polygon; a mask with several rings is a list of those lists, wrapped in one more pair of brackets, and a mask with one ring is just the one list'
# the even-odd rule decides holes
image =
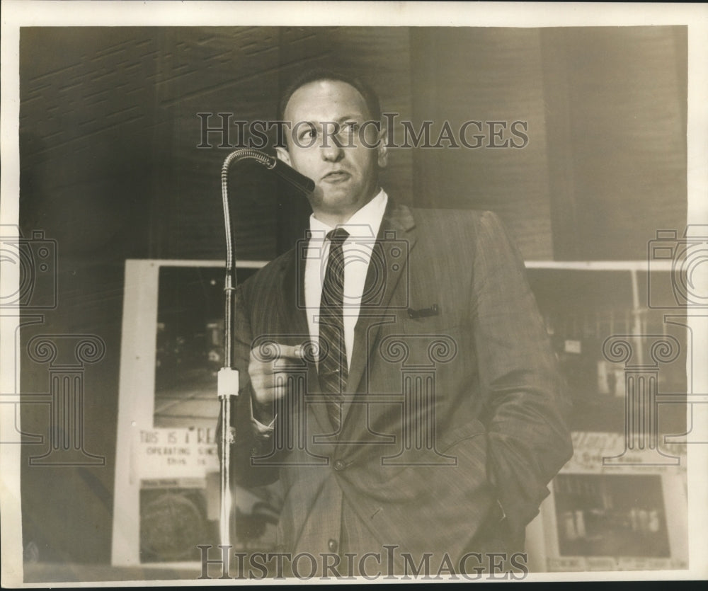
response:
{"label": "man's raised hand with curled fingers, beside the necktie", "polygon": [[273,402],[288,393],[288,372],[302,371],[302,345],[268,343],[251,349],[249,376],[253,389],[253,418],[264,425],[273,422]]}

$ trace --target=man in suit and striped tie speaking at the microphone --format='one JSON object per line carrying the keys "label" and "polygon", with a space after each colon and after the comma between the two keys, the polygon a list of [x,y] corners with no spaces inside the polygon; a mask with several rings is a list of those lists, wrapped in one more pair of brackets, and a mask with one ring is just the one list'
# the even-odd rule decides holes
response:
{"label": "man in suit and striped tie speaking at the microphone", "polygon": [[281,105],[278,157],[314,180],[313,214],[236,293],[236,481],[280,479],[279,550],[342,574],[523,550],[572,453],[523,260],[491,212],[385,193],[386,132],[360,81],[312,72]]}

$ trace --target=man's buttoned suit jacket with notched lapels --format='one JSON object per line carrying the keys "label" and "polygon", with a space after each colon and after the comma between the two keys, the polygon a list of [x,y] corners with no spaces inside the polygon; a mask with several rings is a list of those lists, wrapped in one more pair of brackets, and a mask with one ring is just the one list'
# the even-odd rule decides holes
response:
{"label": "man's buttoned suit jacket with notched lapels", "polygon": [[249,352],[309,338],[305,315],[318,311],[304,309],[302,252],[239,286],[234,320],[244,387],[233,472],[244,486],[282,481],[280,549],[361,555],[388,544],[455,559],[498,504],[509,531],[523,532],[571,457],[569,402],[523,260],[496,215],[389,201],[340,432],[331,433],[310,357],[263,437],[251,423]]}

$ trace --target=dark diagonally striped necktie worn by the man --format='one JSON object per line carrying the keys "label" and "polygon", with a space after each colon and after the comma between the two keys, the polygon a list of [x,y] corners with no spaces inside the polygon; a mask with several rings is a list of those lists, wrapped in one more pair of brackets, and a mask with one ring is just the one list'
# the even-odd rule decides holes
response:
{"label": "dark diagonally striped necktie worn by the man", "polygon": [[344,342],[344,251],[349,233],[343,228],[327,234],[330,241],[327,269],[319,304],[318,374],[322,393],[327,398],[327,414],[339,430],[344,387],[349,374]]}

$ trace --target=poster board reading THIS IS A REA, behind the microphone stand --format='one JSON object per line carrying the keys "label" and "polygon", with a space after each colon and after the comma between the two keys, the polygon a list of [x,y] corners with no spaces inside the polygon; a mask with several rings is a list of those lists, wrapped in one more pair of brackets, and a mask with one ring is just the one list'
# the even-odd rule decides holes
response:
{"label": "poster board reading THIS IS A REA, behind the microphone stand", "polygon": [[[263,264],[239,263],[239,280]],[[197,545],[218,544],[223,268],[126,261],[113,566],[195,567]],[[252,515],[255,507],[268,526],[246,527],[247,539],[273,536],[269,494],[239,491],[237,510]]]}

